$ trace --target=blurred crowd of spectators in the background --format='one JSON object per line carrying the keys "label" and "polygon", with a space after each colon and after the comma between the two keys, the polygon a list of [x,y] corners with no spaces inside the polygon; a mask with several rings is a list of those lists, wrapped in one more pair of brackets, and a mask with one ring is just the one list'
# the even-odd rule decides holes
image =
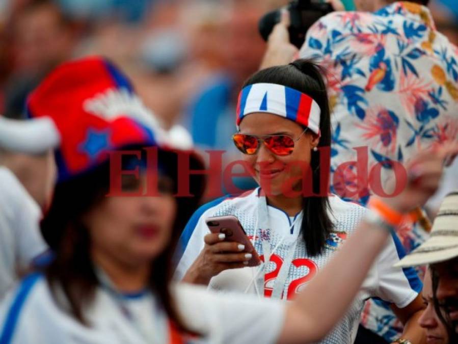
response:
{"label": "blurred crowd of spectators in the background", "polygon": [[[368,0],[369,1],[369,0]],[[258,69],[257,23],[288,0],[0,0],[0,114],[62,61],[117,63],[163,126],[201,149],[233,150],[236,90]],[[458,43],[458,2],[430,6]]]}

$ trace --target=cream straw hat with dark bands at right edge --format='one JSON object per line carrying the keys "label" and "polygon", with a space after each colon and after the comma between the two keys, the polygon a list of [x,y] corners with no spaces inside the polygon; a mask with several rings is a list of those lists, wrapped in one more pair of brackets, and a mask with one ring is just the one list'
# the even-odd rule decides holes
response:
{"label": "cream straw hat with dark bands at right edge", "polygon": [[432,264],[455,257],[458,257],[458,191],[444,198],[429,239],[395,267]]}

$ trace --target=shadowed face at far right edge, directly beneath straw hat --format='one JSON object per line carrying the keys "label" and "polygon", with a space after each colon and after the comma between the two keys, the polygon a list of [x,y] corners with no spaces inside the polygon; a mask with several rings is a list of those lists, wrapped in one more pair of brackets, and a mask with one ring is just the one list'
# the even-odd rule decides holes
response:
{"label": "shadowed face at far right edge, directly beneath straw hat", "polygon": [[440,308],[453,324],[458,324],[458,257],[434,264],[433,268],[439,275],[436,297]]}

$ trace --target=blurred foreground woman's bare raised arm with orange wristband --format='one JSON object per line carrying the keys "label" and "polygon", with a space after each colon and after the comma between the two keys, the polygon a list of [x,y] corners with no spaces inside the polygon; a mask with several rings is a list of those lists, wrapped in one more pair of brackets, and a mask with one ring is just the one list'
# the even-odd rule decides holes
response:
{"label": "blurred foreground woman's bare raised arm with orange wristband", "polygon": [[406,188],[396,197],[380,199],[386,211],[376,207],[370,212],[385,224],[376,225],[366,217],[304,292],[287,305],[280,343],[315,342],[335,326],[390,235],[386,228],[393,221],[390,211],[407,214],[424,204],[439,186],[445,157],[457,152],[454,145],[417,155],[408,169]]}

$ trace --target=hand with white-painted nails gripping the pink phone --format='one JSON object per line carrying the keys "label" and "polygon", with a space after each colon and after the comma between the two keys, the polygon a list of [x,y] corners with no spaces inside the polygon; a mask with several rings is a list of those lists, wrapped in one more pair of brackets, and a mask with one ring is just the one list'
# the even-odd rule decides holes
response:
{"label": "hand with white-painted nails gripping the pink phone", "polygon": [[252,253],[244,252],[244,244],[225,241],[224,233],[205,235],[205,247],[183,277],[183,282],[208,285],[213,276],[224,270],[248,266]]}

